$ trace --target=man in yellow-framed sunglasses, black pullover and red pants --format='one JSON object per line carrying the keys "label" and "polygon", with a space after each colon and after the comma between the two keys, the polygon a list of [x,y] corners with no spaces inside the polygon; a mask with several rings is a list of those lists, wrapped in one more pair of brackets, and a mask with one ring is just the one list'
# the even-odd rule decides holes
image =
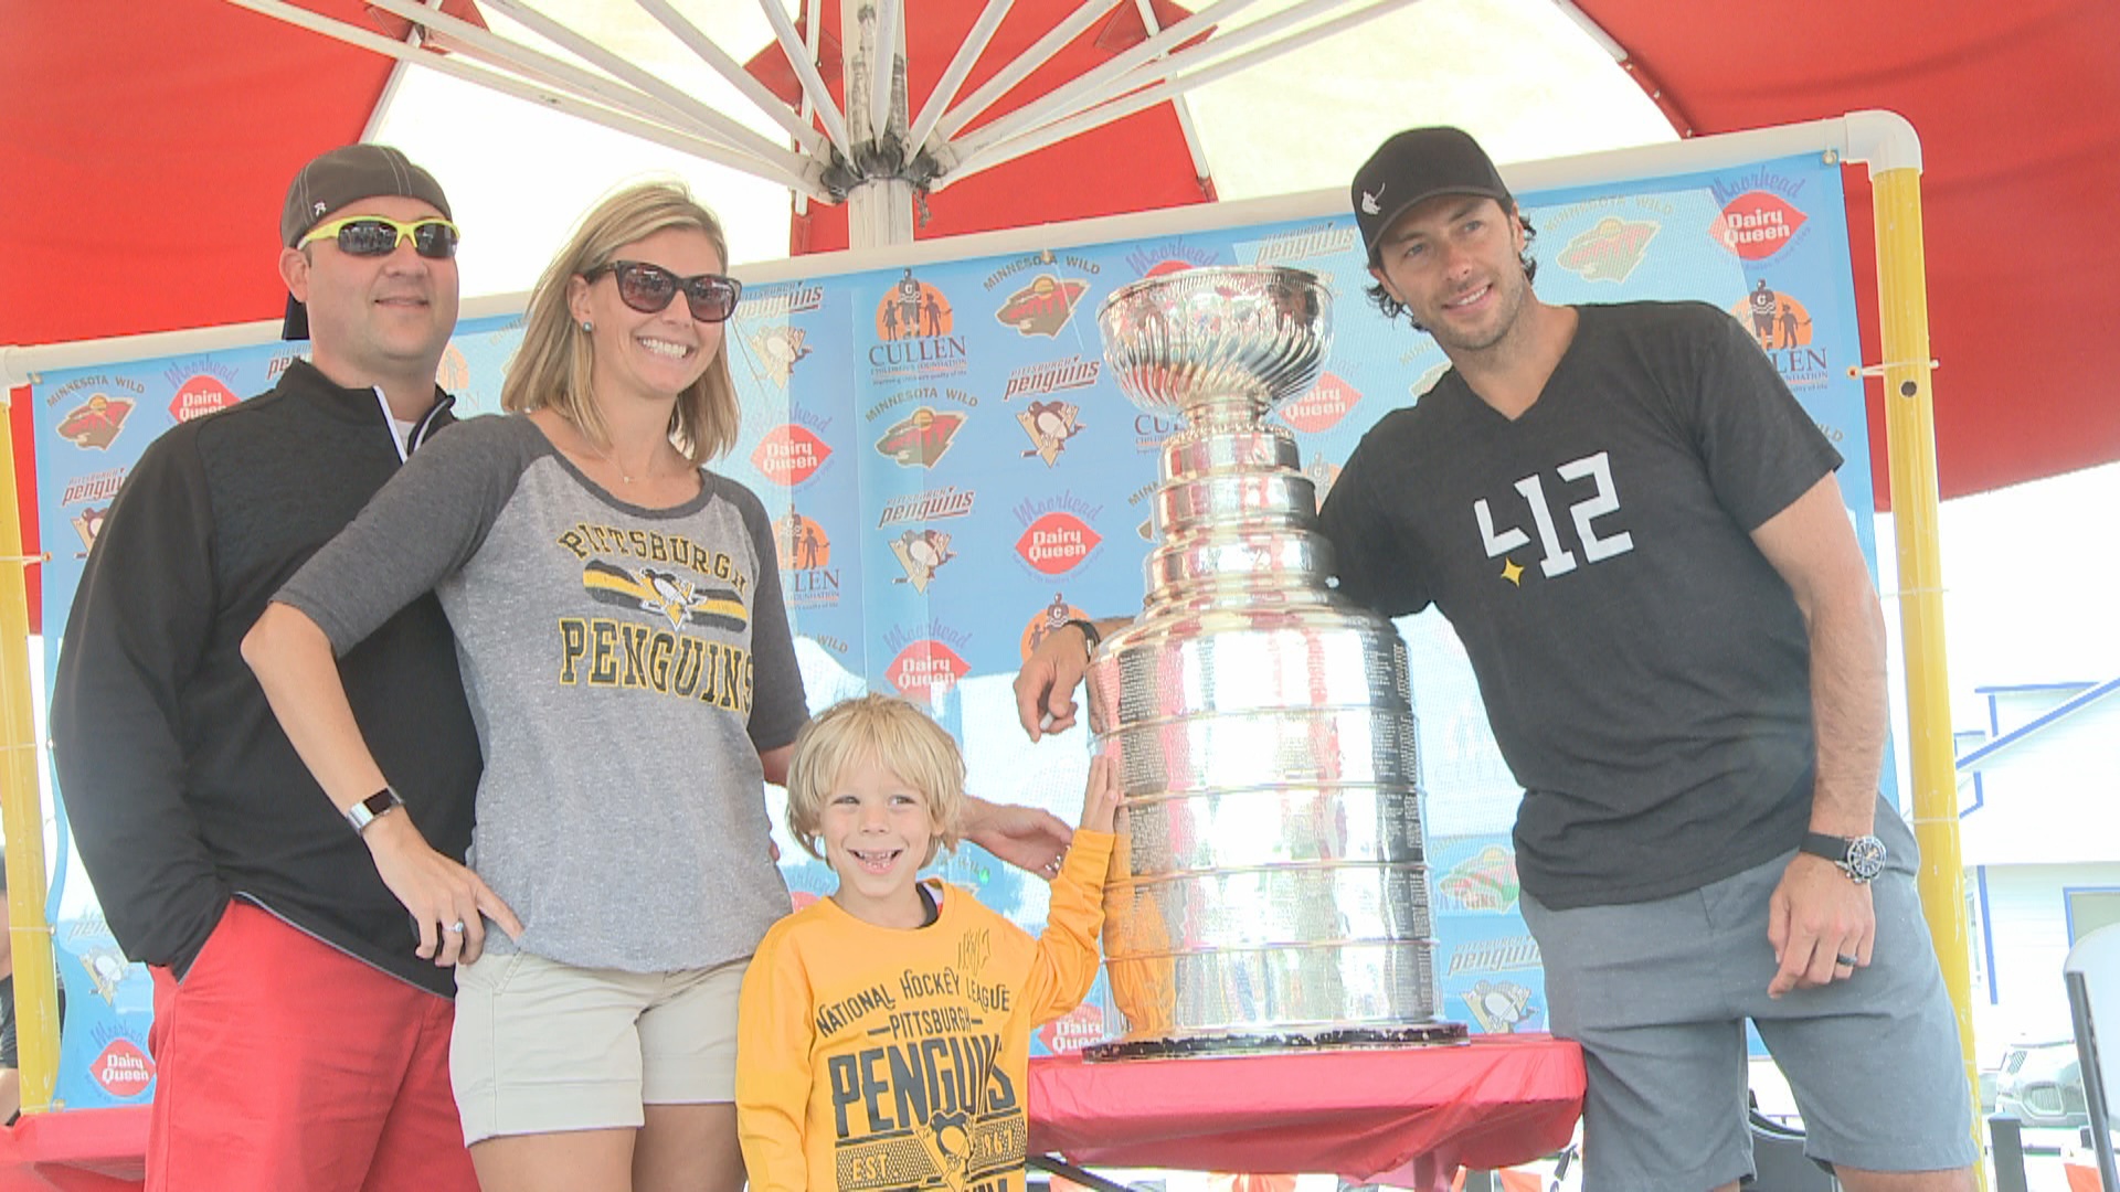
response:
{"label": "man in yellow-framed sunglasses, black pullover and red pants", "polygon": [[[479,929],[392,889],[477,882],[479,744],[432,596],[339,660],[390,787],[333,808],[237,653],[273,592],[452,422],[456,225],[377,144],[303,165],[280,216],[286,335],[269,392],[134,467],[89,551],[51,704],[81,859],[155,978],[151,1190],[473,1190],[449,1094],[452,967]],[[422,834],[437,872],[377,874]],[[483,887],[477,887],[483,889]],[[492,897],[492,895],[485,895]],[[494,899],[498,923],[515,918]],[[471,916],[477,918],[477,916]]]}

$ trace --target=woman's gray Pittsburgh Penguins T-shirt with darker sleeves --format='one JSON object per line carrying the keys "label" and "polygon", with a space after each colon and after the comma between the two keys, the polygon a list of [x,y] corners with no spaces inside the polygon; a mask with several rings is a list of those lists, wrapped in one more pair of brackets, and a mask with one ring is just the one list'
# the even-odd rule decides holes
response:
{"label": "woman's gray Pittsburgh Penguins T-shirt with darker sleeves", "polygon": [[551,961],[719,965],[789,908],[759,751],[808,711],[772,528],[750,490],[702,479],[642,509],[528,418],[473,418],[278,596],[341,655],[441,596],[485,751],[471,867],[522,916],[519,948]]}

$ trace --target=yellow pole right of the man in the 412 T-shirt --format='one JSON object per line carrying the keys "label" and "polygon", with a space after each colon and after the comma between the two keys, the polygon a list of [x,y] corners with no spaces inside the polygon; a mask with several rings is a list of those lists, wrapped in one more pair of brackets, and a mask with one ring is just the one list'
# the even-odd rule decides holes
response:
{"label": "yellow pole right of the man in the 412 T-shirt", "polygon": [[[1959,859],[1959,783],[1944,672],[1944,568],[1938,551],[1936,411],[1929,392],[1929,288],[1921,240],[1921,170],[1870,176],[1876,214],[1878,322],[1885,346],[1885,441],[1891,520],[1900,541],[1900,626],[1906,641],[1906,719],[1921,844],[1921,910],[1959,1016],[1965,1084],[1978,1105],[1965,865]],[[1978,1114],[1974,1141],[1980,1141]],[[1980,1171],[1982,1186],[1986,1171]]]}

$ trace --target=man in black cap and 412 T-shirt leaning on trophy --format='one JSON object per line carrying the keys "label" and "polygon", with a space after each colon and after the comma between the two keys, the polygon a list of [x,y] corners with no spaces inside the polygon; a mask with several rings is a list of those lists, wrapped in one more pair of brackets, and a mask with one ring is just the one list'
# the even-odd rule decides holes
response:
{"label": "man in black cap and 412 T-shirt leaning on trophy", "polygon": [[[1751,1018],[1847,1188],[1969,1190],[1914,840],[1876,793],[1885,630],[1840,456],[1721,310],[1539,301],[1531,227],[1461,129],[1393,136],[1350,199],[1370,297],[1452,369],[1319,520],[1344,596],[1450,617],[1524,785],[1584,1186],[1736,1188]],[[1081,636],[1052,638],[1018,679],[1032,738],[1075,715]]]}

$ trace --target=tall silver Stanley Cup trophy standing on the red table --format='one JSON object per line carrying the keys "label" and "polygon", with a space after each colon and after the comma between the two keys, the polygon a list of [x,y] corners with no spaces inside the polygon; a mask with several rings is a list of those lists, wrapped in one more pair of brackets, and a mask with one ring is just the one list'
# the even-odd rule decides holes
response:
{"label": "tall silver Stanley Cup trophy standing on the red table", "polygon": [[1331,588],[1295,439],[1331,295],[1187,269],[1098,314],[1164,441],[1143,615],[1090,662],[1124,804],[1105,952],[1126,1035],[1092,1058],[1461,1039],[1435,969],[1406,643]]}

